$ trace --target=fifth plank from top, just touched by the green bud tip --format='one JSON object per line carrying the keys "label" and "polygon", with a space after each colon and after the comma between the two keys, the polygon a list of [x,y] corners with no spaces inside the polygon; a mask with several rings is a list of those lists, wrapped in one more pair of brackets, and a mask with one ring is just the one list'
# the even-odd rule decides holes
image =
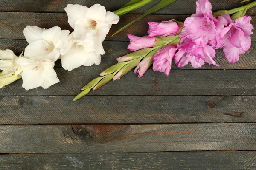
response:
{"label": "fifth plank from top, just touched by the green bud tip", "polygon": [[256,97],[0,97],[0,124],[256,122]]}

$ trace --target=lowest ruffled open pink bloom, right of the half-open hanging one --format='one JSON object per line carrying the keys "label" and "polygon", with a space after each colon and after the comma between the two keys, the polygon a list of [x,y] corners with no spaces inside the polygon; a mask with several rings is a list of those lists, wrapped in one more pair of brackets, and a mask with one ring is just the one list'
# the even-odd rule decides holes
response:
{"label": "lowest ruffled open pink bloom, right of the half-open hanging one", "polygon": [[177,45],[179,50],[174,57],[177,67],[184,67],[189,62],[194,68],[201,68],[204,63],[219,66],[213,58],[215,57],[215,50],[209,45],[199,46],[190,39],[185,39],[181,44]]}

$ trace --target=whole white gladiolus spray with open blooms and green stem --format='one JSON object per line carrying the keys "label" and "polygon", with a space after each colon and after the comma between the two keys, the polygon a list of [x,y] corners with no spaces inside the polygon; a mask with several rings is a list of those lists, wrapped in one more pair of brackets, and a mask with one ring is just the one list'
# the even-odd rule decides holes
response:
{"label": "whole white gladiolus spray with open blooms and green stem", "polygon": [[[0,50],[0,88],[20,78],[23,80],[22,87],[26,90],[49,88],[59,82],[53,69],[54,62],[58,59],[61,59],[62,67],[68,71],[81,65],[99,65],[101,55],[105,53],[102,42],[112,24],[118,23],[120,15],[151,1],[153,0],[131,0],[114,12],[106,11],[100,4],[90,8],[68,4],[65,11],[68,23],[74,29],[71,34],[58,26],[49,29],[27,26],[24,36],[29,45],[25,48],[24,56],[20,54],[17,57],[11,50]],[[143,16],[174,1],[161,0]]]}

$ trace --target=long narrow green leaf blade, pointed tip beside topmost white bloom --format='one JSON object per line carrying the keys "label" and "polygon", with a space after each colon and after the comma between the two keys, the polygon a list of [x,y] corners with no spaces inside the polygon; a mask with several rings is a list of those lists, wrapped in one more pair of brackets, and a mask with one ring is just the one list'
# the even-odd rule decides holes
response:
{"label": "long narrow green leaf blade, pointed tip beside topmost white bloom", "polygon": [[[132,21],[131,23],[128,23],[126,26],[124,26],[123,28],[119,29],[118,31],[116,31],[113,35],[119,33],[120,31],[124,30],[125,28],[127,28],[128,26],[131,26],[131,24],[133,24],[135,21],[139,20],[140,18],[154,12],[157,11],[167,5],[169,5],[170,3],[175,2],[176,0],[161,0],[159,3],[157,3],[157,5],[155,5],[153,8],[150,8],[148,11],[146,11],[143,15],[141,15],[139,18],[137,18],[136,20]],[[112,35],[112,36],[113,36]]]}

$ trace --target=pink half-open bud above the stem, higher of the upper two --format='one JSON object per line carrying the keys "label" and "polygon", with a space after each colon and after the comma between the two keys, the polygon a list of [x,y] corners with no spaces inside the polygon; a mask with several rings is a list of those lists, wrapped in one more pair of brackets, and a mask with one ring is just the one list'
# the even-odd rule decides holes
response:
{"label": "pink half-open bud above the stem, higher of the upper two", "polygon": [[148,24],[148,37],[176,35],[181,28],[181,26],[172,20],[163,21],[161,23],[148,22]]}

